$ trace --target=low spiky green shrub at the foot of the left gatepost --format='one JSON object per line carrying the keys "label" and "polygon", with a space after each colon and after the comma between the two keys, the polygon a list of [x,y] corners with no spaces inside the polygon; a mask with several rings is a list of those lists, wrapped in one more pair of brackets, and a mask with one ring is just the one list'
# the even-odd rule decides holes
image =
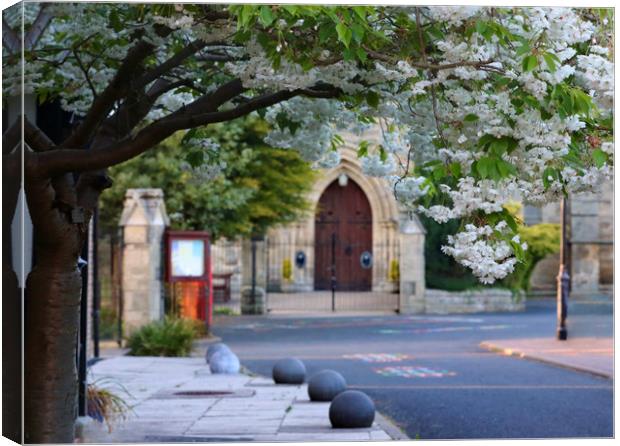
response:
{"label": "low spiky green shrub at the foot of the left gatepost", "polygon": [[132,356],[187,356],[198,336],[196,322],[166,317],[133,333],[127,347]]}

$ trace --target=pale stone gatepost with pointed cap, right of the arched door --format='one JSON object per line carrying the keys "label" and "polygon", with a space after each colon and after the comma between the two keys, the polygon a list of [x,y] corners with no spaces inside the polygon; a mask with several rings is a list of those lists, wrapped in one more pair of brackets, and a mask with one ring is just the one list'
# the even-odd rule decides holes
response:
{"label": "pale stone gatepost with pointed cap, right of the arched door", "polygon": [[424,313],[424,238],[426,231],[415,214],[400,219],[400,313]]}

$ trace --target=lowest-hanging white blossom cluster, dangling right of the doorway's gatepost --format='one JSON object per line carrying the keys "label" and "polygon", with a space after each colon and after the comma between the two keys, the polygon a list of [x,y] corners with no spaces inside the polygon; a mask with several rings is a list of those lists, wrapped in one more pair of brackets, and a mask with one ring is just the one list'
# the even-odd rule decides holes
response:
{"label": "lowest-hanging white blossom cluster, dangling right of the doorway's gatepost", "polygon": [[[510,244],[497,235],[505,233],[506,228],[505,222],[495,227],[468,224],[463,232],[448,236],[448,244],[441,249],[470,268],[482,283],[491,284],[510,274],[517,263]],[[518,235],[512,241],[521,244]],[[527,249],[527,244],[522,243],[521,247]]]}

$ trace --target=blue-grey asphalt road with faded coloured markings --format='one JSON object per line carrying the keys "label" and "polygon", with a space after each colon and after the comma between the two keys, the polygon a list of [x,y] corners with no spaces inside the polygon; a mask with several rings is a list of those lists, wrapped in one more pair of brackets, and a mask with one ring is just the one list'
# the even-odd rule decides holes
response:
{"label": "blue-grey asphalt road with faded coloured markings", "polygon": [[[609,335],[611,315],[569,317],[569,336]],[[613,436],[613,382],[479,348],[487,339],[554,336],[552,302],[518,314],[225,317],[215,333],[252,372],[295,356],[366,392],[410,438]]]}

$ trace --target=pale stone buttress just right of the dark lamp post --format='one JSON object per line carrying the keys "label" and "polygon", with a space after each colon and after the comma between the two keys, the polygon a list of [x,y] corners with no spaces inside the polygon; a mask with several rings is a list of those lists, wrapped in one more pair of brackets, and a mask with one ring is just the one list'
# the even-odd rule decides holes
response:
{"label": "pale stone buttress just right of the dark lamp post", "polygon": [[599,197],[579,194],[571,197],[571,297],[592,297],[599,291]]}

